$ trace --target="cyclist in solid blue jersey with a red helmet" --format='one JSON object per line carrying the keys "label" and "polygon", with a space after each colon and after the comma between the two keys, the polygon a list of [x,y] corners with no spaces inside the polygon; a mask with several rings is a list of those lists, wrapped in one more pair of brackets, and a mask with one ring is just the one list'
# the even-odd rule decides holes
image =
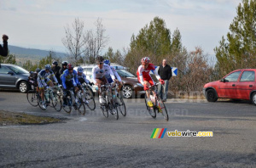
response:
{"label": "cyclist in solid blue jersey with a red helmet", "polygon": [[[78,72],[73,70],[72,64],[67,64],[67,70],[64,70],[61,76],[62,86],[63,86],[63,106],[67,105],[67,90],[70,88],[74,88],[74,96],[76,98],[76,93],[79,91],[78,85],[80,84],[78,81]],[[76,103],[74,103],[76,104]]]}

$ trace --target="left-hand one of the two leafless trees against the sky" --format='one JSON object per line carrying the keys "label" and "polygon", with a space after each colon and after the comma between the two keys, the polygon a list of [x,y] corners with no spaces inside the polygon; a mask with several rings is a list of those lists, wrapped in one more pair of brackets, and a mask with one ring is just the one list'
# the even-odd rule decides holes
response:
{"label": "left-hand one of the two leafless trees against the sky", "polygon": [[62,38],[62,43],[67,48],[69,53],[69,60],[73,64],[78,64],[83,60],[83,53],[85,51],[84,36],[84,21],[79,18],[75,19],[72,28],[67,25],[64,27],[66,36]]}

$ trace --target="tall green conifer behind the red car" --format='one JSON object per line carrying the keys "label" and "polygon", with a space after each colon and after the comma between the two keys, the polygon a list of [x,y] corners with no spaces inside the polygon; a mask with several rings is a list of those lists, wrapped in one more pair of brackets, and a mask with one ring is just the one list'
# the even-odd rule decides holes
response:
{"label": "tall green conifer behind the red car", "polygon": [[227,39],[223,36],[219,46],[214,49],[219,76],[232,70],[256,66],[256,0],[242,0],[236,14]]}

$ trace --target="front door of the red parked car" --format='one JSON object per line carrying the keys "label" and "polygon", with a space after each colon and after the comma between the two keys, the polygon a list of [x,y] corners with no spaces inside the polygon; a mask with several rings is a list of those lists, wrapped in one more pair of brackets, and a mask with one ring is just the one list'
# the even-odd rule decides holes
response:
{"label": "front door of the red parked car", "polygon": [[236,85],[241,70],[230,73],[224,77],[224,81],[219,82],[218,97],[219,98],[236,98]]}

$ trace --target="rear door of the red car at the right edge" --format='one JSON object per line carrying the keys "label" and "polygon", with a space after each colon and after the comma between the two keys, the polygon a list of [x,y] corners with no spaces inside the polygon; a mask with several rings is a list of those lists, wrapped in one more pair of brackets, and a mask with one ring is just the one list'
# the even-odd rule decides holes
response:
{"label": "rear door of the red car at the right edge", "polygon": [[250,93],[255,87],[255,72],[253,70],[244,70],[240,81],[237,82],[237,98],[250,99]]}

